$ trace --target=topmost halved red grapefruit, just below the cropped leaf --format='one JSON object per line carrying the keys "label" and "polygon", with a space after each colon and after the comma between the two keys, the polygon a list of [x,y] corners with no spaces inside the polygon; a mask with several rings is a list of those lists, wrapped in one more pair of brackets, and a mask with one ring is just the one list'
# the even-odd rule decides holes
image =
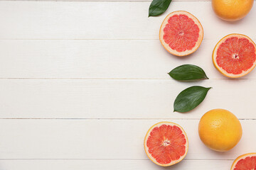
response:
{"label": "topmost halved red grapefruit, just below the cropped leaf", "polygon": [[201,45],[203,27],[191,13],[175,11],[166,16],[161,24],[159,39],[172,55],[190,55]]}

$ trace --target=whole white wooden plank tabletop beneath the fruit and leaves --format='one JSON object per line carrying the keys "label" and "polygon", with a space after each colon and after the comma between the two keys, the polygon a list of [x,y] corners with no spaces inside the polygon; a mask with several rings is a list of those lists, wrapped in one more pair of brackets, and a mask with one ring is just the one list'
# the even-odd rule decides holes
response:
{"label": "whole white wooden plank tabletop beneath the fruit and leaves", "polygon": [[[256,41],[256,6],[237,23],[218,19],[209,0],[173,1],[148,18],[149,0],[0,1],[0,169],[230,169],[256,151],[256,70],[227,79],[214,67],[215,44],[229,33]],[[189,57],[169,55],[158,36],[171,11],[193,13],[204,40]],[[181,64],[202,67],[209,80],[183,83],[166,74]],[[212,86],[198,108],[173,113],[188,86]],[[203,113],[225,108],[243,135],[230,152],[206,148],[198,137]],[[161,120],[180,124],[189,150],[162,168],[149,161],[143,140]]]}

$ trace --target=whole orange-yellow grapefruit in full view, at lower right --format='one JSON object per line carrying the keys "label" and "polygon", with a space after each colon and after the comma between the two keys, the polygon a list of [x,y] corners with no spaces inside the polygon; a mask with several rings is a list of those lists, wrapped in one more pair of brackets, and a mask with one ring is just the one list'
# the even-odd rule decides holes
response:
{"label": "whole orange-yellow grapefruit in full view, at lower right", "polygon": [[226,152],[240,141],[242,126],[233,113],[219,108],[203,115],[198,125],[198,133],[207,147]]}

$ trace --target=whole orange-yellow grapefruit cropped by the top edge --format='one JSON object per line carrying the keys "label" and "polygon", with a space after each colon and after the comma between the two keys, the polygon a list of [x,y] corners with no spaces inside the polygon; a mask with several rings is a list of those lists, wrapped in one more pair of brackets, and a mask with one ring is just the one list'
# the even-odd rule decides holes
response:
{"label": "whole orange-yellow grapefruit cropped by the top edge", "polygon": [[250,12],[254,0],[212,0],[213,11],[225,21],[238,21]]}

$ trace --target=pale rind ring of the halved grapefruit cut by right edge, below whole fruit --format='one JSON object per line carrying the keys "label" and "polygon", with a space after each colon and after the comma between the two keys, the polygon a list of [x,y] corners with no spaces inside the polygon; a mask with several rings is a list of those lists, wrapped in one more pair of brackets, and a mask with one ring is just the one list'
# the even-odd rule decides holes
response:
{"label": "pale rind ring of the halved grapefruit cut by right edge, below whole fruit", "polygon": [[221,68],[221,67],[218,66],[217,61],[216,61],[218,47],[220,47],[220,45],[221,45],[223,42],[225,42],[225,40],[227,40],[228,38],[233,37],[233,36],[235,36],[235,37],[237,37],[237,38],[246,38],[247,40],[249,40],[250,42],[252,42],[252,44],[253,44],[253,45],[255,46],[255,48],[256,48],[255,42],[253,42],[252,39],[250,39],[250,38],[249,38],[248,36],[246,36],[246,35],[237,34],[237,33],[230,34],[230,35],[226,35],[226,36],[225,36],[224,38],[222,38],[222,39],[217,43],[217,45],[215,45],[215,47],[214,47],[214,50],[213,50],[213,64],[214,64],[215,68],[218,69],[218,71],[219,71],[221,74],[223,74],[225,77],[239,78],[239,77],[245,76],[246,74],[249,74],[249,73],[252,71],[252,69],[255,68],[255,66],[256,66],[256,60],[255,60],[255,62],[254,62],[254,64],[253,64],[253,66],[250,67],[250,69],[247,69],[246,71],[242,71],[241,74],[230,74],[230,73],[226,72],[225,69],[223,69],[223,68]]}

